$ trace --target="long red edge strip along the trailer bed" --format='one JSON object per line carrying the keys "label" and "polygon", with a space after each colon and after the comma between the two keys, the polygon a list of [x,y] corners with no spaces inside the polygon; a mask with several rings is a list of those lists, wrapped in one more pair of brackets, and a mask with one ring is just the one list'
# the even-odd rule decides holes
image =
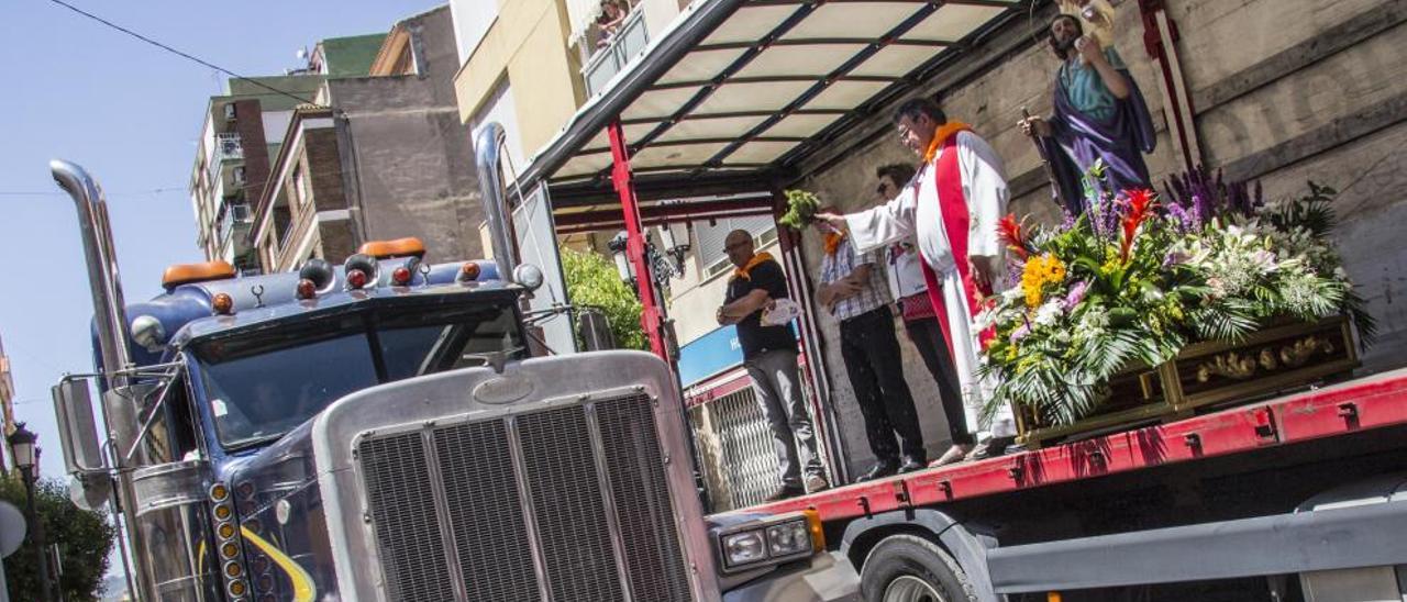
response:
{"label": "long red edge strip along the trailer bed", "polygon": [[1394,425],[1407,425],[1407,371],[744,511],[782,513],[810,508],[822,520],[851,519]]}

